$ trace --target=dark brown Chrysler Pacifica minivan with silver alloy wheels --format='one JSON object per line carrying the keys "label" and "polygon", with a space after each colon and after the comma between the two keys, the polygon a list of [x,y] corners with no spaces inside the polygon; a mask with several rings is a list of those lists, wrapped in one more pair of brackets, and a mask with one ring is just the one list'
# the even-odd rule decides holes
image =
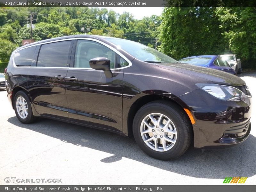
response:
{"label": "dark brown Chrysler Pacifica minivan with silver alloy wheels", "polygon": [[[250,133],[251,94],[234,75],[125,39],[75,35],[16,49],[7,96],[22,123],[46,117],[134,136],[158,159],[228,147]],[[99,140],[100,142],[100,140]]]}

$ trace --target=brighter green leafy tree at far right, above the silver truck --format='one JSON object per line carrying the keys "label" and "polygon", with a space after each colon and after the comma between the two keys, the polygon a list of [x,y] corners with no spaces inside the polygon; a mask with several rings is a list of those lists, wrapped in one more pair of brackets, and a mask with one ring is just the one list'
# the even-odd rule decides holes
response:
{"label": "brighter green leafy tree at far right, above the silver truck", "polygon": [[256,7],[219,7],[217,15],[229,49],[244,60],[256,60]]}

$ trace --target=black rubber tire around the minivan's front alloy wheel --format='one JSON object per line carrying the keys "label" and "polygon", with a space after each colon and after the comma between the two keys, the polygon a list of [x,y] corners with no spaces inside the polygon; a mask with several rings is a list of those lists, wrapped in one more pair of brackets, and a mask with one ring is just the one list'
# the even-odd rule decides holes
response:
{"label": "black rubber tire around the minivan's front alloy wheel", "polygon": [[[146,142],[144,142],[141,136],[141,132],[140,132],[141,123],[143,119],[148,116],[148,114],[152,114],[152,113],[160,113],[160,114],[163,114],[164,116],[167,116],[169,119],[171,119],[172,123],[176,127],[176,131],[177,131],[176,142],[172,146],[172,148],[170,148],[167,151],[156,151],[150,148],[146,144]],[[163,134],[166,134],[166,133],[163,133]],[[186,150],[188,149],[192,141],[193,128],[188,115],[186,114],[184,109],[182,109],[180,106],[168,101],[153,101],[142,106],[136,113],[133,120],[133,135],[139,147],[149,156],[154,157],[156,159],[161,159],[161,160],[171,160],[171,159],[178,158],[179,156],[181,156],[186,152]],[[148,137],[150,136],[148,135]],[[167,144],[168,144],[168,141],[167,141]],[[154,143],[153,144],[150,143],[150,145],[154,145]],[[160,146],[161,146],[161,143],[160,143]]]}

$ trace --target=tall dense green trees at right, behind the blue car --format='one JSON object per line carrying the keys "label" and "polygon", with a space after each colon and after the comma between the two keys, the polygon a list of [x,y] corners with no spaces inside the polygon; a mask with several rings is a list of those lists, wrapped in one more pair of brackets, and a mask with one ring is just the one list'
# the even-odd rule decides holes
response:
{"label": "tall dense green trees at right, behind the blue car", "polygon": [[176,59],[235,53],[256,68],[255,7],[166,7],[160,51]]}

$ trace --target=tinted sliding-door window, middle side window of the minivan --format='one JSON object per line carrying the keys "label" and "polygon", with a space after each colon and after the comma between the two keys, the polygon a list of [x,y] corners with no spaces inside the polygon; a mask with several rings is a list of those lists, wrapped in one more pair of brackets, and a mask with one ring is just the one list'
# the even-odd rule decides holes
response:
{"label": "tinted sliding-door window, middle side window of the minivan", "polygon": [[71,41],[61,41],[41,45],[37,67],[68,67]]}

